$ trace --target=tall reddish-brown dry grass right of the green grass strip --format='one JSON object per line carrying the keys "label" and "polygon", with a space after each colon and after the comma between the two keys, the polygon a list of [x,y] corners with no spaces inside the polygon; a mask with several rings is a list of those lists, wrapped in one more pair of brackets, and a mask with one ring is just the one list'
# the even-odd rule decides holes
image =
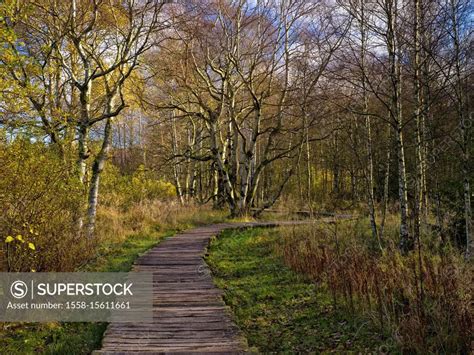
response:
{"label": "tall reddish-brown dry grass right of the green grass strip", "polygon": [[327,287],[334,305],[389,331],[403,351],[468,353],[472,264],[454,251],[383,251],[353,222],[282,229],[286,264]]}

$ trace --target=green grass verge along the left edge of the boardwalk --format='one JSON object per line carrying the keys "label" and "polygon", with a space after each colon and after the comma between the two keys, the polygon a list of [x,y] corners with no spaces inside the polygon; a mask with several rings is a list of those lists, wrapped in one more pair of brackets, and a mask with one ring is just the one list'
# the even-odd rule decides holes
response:
{"label": "green grass verge along the left edge of the boardwalk", "polygon": [[[102,242],[96,255],[77,271],[126,272],[135,259],[161,240],[180,230],[223,222],[224,211],[205,208],[183,209],[174,219],[145,223],[143,228],[125,237]],[[100,348],[106,323],[0,323],[0,354],[90,354]]]}

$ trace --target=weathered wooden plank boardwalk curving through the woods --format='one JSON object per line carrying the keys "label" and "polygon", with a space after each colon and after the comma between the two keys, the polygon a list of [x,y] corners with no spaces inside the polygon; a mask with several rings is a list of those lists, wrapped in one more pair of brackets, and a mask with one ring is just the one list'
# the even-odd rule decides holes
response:
{"label": "weathered wooden plank boardwalk curving through the woods", "polygon": [[109,324],[102,349],[94,354],[245,352],[246,340],[203,260],[209,240],[229,228],[296,223],[221,223],[164,240],[139,257],[132,269],[153,272],[153,322]]}

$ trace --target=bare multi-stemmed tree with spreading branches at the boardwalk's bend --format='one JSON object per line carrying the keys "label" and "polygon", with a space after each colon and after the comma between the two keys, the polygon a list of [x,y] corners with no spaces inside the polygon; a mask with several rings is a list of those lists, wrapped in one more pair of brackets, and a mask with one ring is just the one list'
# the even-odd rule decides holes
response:
{"label": "bare multi-stemmed tree with spreading branches at the boardwalk's bend", "polygon": [[[284,160],[281,180],[256,213],[272,206],[292,176],[294,162],[305,140],[305,122],[290,101],[298,83],[292,80],[292,60],[299,55],[302,21],[315,25],[321,37],[321,57],[315,60],[314,88],[340,43],[334,23],[323,20],[304,2],[218,3],[197,8],[195,26],[176,30],[185,48],[170,52],[171,85],[159,90],[171,100],[156,108],[178,110],[204,124],[209,150],[194,160],[212,161],[216,168],[216,194],[224,193],[231,214],[250,213],[265,170]],[[311,17],[314,16],[314,17]],[[203,21],[204,19],[204,21]],[[309,32],[308,32],[309,33]],[[313,32],[316,34],[317,32]],[[173,48],[170,46],[170,48]],[[178,49],[179,50],[179,49]],[[180,58],[176,65],[176,58]],[[183,90],[176,90],[176,87]]]}

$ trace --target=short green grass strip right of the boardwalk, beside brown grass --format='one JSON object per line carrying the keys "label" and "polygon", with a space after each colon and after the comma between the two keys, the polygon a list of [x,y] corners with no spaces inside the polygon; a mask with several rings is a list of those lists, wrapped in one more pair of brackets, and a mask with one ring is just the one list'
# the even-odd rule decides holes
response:
{"label": "short green grass strip right of the boardwalk, beside brown grass", "polygon": [[283,265],[277,242],[275,230],[226,231],[209,249],[207,262],[249,346],[260,352],[380,350],[368,322],[334,310],[327,291]]}

